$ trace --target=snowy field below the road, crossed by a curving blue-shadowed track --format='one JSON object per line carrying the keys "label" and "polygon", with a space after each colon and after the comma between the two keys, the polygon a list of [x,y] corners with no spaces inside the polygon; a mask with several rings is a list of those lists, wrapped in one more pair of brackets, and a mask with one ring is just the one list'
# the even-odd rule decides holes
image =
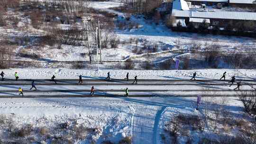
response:
{"label": "snowy field below the road, crossed by a curving blue-shadowed track", "polygon": [[[237,98],[226,98],[225,109],[237,118],[243,116],[243,108]],[[217,102],[221,98],[215,99]],[[69,99],[1,99],[0,114],[13,117],[17,126],[31,123],[52,126],[77,120],[78,125],[101,129],[93,139],[96,144],[103,140],[117,143],[125,136],[132,136],[132,144],[165,144],[160,134],[165,122],[179,113],[201,115],[195,110],[196,98],[69,98]],[[206,130],[203,135],[211,134]],[[3,131],[1,131],[3,135]],[[191,135],[197,144],[202,135]],[[5,138],[8,138],[5,137]],[[1,140],[5,140],[1,138]],[[35,135],[35,141],[45,140]],[[50,139],[46,139],[50,144]],[[89,138],[75,144],[91,144]]]}

